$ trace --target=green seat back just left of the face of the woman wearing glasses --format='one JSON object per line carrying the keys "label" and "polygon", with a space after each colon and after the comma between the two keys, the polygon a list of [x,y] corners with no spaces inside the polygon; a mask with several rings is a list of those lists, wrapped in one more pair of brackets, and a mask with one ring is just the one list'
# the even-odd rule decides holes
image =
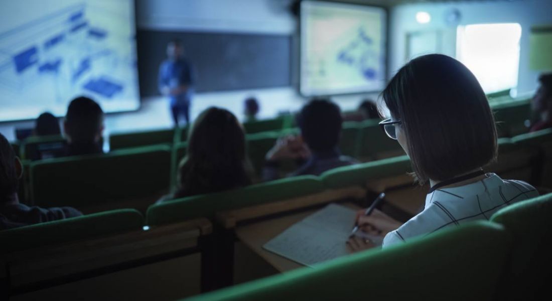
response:
{"label": "green seat back just left of the face of the woman wearing glasses", "polygon": [[389,138],[381,127],[380,120],[365,120],[360,125],[360,157],[380,159],[386,153],[404,154],[399,142]]}

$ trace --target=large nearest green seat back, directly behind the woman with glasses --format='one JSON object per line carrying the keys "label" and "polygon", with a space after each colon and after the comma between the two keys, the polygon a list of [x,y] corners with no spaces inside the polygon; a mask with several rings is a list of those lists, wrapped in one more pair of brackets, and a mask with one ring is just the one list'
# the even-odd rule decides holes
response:
{"label": "large nearest green seat back, directly behind the woman with glasses", "polygon": [[476,222],[189,300],[491,300],[511,244]]}

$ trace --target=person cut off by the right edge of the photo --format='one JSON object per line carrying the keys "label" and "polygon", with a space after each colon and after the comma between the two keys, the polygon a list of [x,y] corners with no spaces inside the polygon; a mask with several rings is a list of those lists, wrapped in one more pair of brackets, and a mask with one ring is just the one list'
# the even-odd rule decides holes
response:
{"label": "person cut off by the right edge of the photo", "polygon": [[540,86],[531,101],[531,109],[535,120],[529,131],[538,131],[552,128],[552,73],[539,77]]}

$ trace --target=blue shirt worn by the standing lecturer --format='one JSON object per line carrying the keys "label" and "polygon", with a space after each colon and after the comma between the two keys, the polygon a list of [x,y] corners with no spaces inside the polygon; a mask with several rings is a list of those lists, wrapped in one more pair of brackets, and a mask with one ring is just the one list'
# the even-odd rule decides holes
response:
{"label": "blue shirt worn by the standing lecturer", "polygon": [[194,93],[195,74],[192,65],[185,59],[165,60],[159,67],[157,85],[161,91],[163,87],[176,88],[180,85],[188,85],[188,90],[176,96],[169,96],[171,106],[187,105],[192,100]]}

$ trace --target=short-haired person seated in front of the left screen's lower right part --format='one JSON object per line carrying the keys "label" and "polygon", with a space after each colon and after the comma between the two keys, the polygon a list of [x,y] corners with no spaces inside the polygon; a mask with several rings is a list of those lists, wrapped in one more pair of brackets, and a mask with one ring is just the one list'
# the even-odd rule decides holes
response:
{"label": "short-haired person seated in front of the left screen's lower right part", "polygon": [[88,97],[71,101],[65,115],[67,156],[103,154],[103,111]]}

